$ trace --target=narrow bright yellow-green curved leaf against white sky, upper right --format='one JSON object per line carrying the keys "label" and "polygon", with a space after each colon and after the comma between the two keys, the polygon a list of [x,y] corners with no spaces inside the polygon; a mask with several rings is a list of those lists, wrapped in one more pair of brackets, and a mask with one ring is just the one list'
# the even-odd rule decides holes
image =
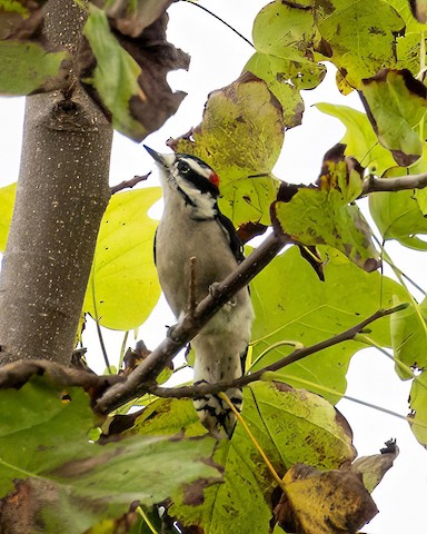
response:
{"label": "narrow bright yellow-green curved leaf against white sky, upper right", "polygon": [[346,145],[346,156],[352,156],[369,172],[381,176],[396,165],[389,150],[384,148],[373,129],[366,113],[335,103],[317,103],[317,109],[339,119],[347,131],[339,141]]}

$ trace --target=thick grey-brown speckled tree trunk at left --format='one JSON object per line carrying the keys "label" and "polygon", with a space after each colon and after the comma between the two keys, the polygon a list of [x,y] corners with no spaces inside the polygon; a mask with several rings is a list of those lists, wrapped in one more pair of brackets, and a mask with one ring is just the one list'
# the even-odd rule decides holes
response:
{"label": "thick grey-brown speckled tree trunk at left", "polygon": [[[52,48],[78,50],[83,11],[49,3]],[[72,76],[70,80],[77,79]],[[17,199],[0,276],[0,364],[68,364],[102,214],[112,129],[78,82],[28,97]]]}

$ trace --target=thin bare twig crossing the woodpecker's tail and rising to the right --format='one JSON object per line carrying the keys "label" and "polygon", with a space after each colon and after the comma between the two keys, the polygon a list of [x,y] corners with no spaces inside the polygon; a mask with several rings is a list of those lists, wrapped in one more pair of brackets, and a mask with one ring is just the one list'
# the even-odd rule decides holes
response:
{"label": "thin bare twig crossing the woodpecker's tail and rising to the right", "polygon": [[375,314],[373,314],[370,317],[366,318],[361,323],[352,326],[351,328],[348,328],[348,330],[341,332],[340,334],[337,334],[336,336],[332,336],[328,339],[325,339],[324,342],[316,343],[315,345],[311,345],[309,347],[305,348],[298,348],[297,350],[294,350],[291,354],[288,356],[285,356],[281,359],[278,359],[271,365],[268,365],[267,367],[264,367],[260,370],[257,370],[256,373],[252,373],[251,375],[245,375],[240,378],[237,378],[231,382],[219,382],[217,384],[199,384],[197,386],[182,386],[182,387],[160,387],[160,386],[151,386],[148,388],[147,393],[150,393],[152,395],[156,395],[158,397],[173,397],[173,398],[185,398],[185,397],[199,397],[202,395],[208,395],[208,394],[216,394],[219,392],[224,392],[226,389],[229,389],[231,387],[242,387],[251,382],[260,380],[262,379],[262,375],[265,373],[272,373],[279,369],[282,369],[284,367],[294,364],[295,362],[299,362],[302,358],[306,358],[307,356],[310,356],[311,354],[319,353],[320,350],[324,350],[325,348],[329,348],[334,345],[337,345],[338,343],[347,342],[350,339],[354,339],[357,334],[359,334],[367,325],[370,323],[374,323],[375,320],[386,317],[387,315],[391,315],[396,312],[399,312],[401,309],[406,308],[406,304],[400,304],[398,306],[395,306],[393,308],[388,309],[379,309]]}

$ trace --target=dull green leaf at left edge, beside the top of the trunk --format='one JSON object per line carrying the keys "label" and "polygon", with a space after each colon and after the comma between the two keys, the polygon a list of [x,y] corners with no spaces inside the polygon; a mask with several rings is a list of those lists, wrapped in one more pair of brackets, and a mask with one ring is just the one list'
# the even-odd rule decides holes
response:
{"label": "dull green leaf at left edge, beside the top of the trunk", "polygon": [[37,42],[0,41],[0,93],[29,95],[63,86],[67,52],[48,52]]}

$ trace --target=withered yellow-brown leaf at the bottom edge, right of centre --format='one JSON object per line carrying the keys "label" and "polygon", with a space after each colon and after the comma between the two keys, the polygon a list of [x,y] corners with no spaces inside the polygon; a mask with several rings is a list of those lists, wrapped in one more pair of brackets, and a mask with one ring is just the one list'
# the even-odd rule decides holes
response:
{"label": "withered yellow-brown leaf at the bottom edge, right of centre", "polygon": [[296,534],[356,534],[378,510],[361,476],[350,471],[320,472],[295,464],[284,477],[275,516]]}

